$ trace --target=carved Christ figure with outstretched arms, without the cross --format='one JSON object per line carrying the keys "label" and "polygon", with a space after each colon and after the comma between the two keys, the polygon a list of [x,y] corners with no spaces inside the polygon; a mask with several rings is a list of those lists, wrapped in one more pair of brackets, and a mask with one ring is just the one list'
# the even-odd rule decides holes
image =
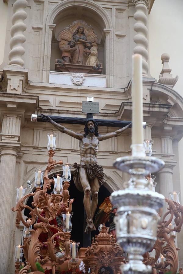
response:
{"label": "carved Christ figure with outstretched arms, without the cross", "polygon": [[83,203],[87,214],[87,226],[84,232],[90,233],[90,231],[96,230],[93,223],[93,217],[98,203],[98,191],[100,186],[104,183],[103,168],[98,165],[97,161],[99,141],[119,136],[125,129],[129,128],[131,124],[118,129],[115,132],[100,135],[97,122],[94,119],[89,118],[85,123],[84,134],[81,134],[54,122],[49,116],[42,116],[44,116],[46,121],[52,123],[60,132],[66,133],[80,141],[81,161],[80,164],[74,163],[73,165],[76,167],[76,170],[74,171],[74,184],[78,190],[84,192]]}

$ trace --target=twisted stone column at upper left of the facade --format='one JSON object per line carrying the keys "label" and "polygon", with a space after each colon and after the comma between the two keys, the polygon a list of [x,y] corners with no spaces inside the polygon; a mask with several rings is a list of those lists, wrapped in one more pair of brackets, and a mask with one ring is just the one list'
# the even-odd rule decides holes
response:
{"label": "twisted stone column at upper left of the facade", "polygon": [[13,4],[13,16],[12,16],[12,28],[10,30],[11,40],[9,52],[9,65],[19,65],[23,67],[24,61],[22,55],[25,53],[25,49],[22,44],[26,41],[26,37],[23,32],[27,29],[26,24],[23,22],[27,18],[27,12],[25,8],[28,2],[26,0],[16,0]]}

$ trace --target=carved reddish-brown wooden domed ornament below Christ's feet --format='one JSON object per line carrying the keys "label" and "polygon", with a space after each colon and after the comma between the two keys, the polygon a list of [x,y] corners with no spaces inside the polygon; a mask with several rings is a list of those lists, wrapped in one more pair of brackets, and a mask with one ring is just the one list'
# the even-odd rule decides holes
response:
{"label": "carved reddish-brown wooden domed ornament below Christ's feet", "polygon": [[122,248],[107,233],[107,228],[103,225],[95,241],[93,238],[91,247],[85,252],[85,272],[87,273],[90,268],[91,273],[95,274],[120,274],[120,265],[125,262],[122,253]]}

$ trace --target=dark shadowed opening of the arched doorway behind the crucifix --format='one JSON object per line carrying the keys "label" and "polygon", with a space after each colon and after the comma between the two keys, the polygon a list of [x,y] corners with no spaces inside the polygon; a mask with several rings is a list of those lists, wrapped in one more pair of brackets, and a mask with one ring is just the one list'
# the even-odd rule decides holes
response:
{"label": "dark shadowed opening of the arched doorway behind the crucifix", "polygon": [[[57,173],[55,173],[57,174]],[[51,178],[54,174],[51,174],[49,177]],[[51,189],[48,190],[48,194],[51,193],[53,191],[53,184],[51,185]],[[72,212],[74,213],[72,216],[72,226],[73,229],[71,231],[71,239],[73,241],[77,241],[80,242],[80,247],[83,247],[83,236],[84,236],[84,205],[83,205],[83,197],[84,197],[84,193],[80,192],[74,184],[73,181],[73,176],[72,179],[70,181],[70,187],[69,187],[69,195],[70,198],[74,198],[74,203],[73,203],[73,207],[72,207]],[[104,199],[106,197],[108,197],[110,195],[109,190],[105,187],[105,186],[101,186],[99,189],[99,195],[98,195],[98,206],[95,212],[98,212],[99,210],[99,206],[102,204],[102,202],[104,201]],[[30,196],[28,201],[27,201],[27,205],[32,207],[32,203],[33,202],[33,197]],[[24,215],[27,216],[28,218],[30,217],[29,215],[29,210],[25,209],[24,211]],[[95,216],[94,216],[95,219]],[[96,227],[97,228],[97,227]],[[95,237],[95,234],[98,234],[98,228],[96,231],[93,231],[91,233],[91,238]]]}

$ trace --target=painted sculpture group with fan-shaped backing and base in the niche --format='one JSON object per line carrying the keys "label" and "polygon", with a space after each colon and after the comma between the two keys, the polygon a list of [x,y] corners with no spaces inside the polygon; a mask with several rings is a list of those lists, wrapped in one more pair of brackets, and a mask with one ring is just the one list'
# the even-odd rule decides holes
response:
{"label": "painted sculpture group with fan-shaped backing and base in the niche", "polygon": [[98,60],[99,39],[93,27],[82,20],[66,26],[57,35],[60,57],[55,71],[101,74]]}

